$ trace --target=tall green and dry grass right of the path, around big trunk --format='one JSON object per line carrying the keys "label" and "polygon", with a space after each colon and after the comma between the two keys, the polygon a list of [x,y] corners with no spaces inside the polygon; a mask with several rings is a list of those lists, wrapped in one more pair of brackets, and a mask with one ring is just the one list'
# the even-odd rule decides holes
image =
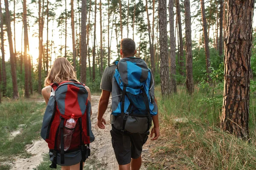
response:
{"label": "tall green and dry grass right of the path, around big trunk", "polygon": [[[216,97],[221,96],[216,91]],[[221,99],[202,102],[210,94],[198,88],[192,96],[179,87],[177,94],[160,99],[156,88],[160,112],[160,134],[147,162],[148,170],[254,170],[256,168],[255,99],[250,99],[249,141],[222,132],[219,128]],[[212,99],[214,100],[214,99]],[[215,105],[213,105],[215,104]],[[176,122],[175,118],[187,118],[188,122]]]}

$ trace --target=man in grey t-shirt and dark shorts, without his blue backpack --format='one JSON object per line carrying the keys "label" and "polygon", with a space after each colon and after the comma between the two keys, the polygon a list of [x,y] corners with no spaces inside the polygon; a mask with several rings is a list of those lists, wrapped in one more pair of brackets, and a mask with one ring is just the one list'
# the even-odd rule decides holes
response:
{"label": "man in grey t-shirt and dark shorts, without his blue backpack", "polygon": [[[130,38],[125,38],[121,40],[121,49],[120,54],[122,58],[126,57],[134,57],[136,54],[136,45],[134,40]],[[109,97],[112,91],[112,79],[115,74],[116,64],[111,64],[110,66],[105,68],[105,71],[102,75],[102,81],[100,88],[102,89],[102,94],[99,99],[99,111],[98,111],[98,122],[97,125],[101,129],[105,129],[105,119],[103,115],[108,107]],[[151,88],[154,94],[154,83],[153,78],[151,78]],[[142,101],[143,102],[143,101]],[[156,108],[157,101],[154,99]],[[152,116],[154,127],[151,130],[150,137],[155,133],[154,138],[151,140],[156,140],[159,136],[159,122],[158,122],[158,111],[156,111],[156,115]],[[112,116],[112,115],[111,115]],[[105,124],[105,125],[104,125]],[[116,128],[112,125],[111,130],[112,136],[112,146],[115,151],[116,159],[119,164],[119,170],[139,170],[142,159],[141,152],[143,144],[145,144],[148,139],[147,133],[131,133],[130,135],[124,135],[124,133],[116,130]],[[124,138],[125,136],[125,138]],[[125,139],[125,140],[124,140]]]}

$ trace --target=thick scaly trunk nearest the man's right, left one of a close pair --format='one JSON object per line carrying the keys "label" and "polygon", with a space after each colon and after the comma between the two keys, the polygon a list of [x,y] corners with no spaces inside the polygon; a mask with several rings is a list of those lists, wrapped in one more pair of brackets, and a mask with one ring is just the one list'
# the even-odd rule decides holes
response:
{"label": "thick scaly trunk nearest the man's right, left one of a close pair", "polygon": [[160,42],[160,80],[162,96],[169,96],[170,79],[168,65],[168,42],[167,42],[167,6],[166,0],[158,1],[158,16],[159,16],[159,42]]}

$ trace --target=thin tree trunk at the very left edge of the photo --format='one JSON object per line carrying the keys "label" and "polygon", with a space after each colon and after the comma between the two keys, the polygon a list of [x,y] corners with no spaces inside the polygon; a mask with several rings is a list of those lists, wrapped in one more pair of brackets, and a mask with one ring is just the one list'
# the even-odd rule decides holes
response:
{"label": "thin tree trunk at the very left edge of the photo", "polygon": [[3,34],[3,13],[2,13],[2,6],[0,0],[0,28],[1,28],[1,52],[2,52],[2,80],[3,80],[3,96],[6,95],[6,64],[5,64],[5,52],[4,52],[4,34]]}

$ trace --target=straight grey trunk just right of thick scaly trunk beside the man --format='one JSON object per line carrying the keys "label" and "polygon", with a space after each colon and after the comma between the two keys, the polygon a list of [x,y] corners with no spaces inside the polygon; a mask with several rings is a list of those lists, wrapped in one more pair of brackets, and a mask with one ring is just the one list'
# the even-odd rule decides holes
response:
{"label": "straight grey trunk just right of thick scaly trunk beside the man", "polygon": [[[170,25],[170,62],[171,62],[171,83],[170,83],[170,91],[171,93],[177,92],[176,86],[176,48],[175,48],[175,36],[174,36],[174,0],[169,0],[169,25]],[[157,28],[158,29],[158,28]],[[157,59],[158,61],[158,59]],[[157,67],[158,68],[158,67]]]}

